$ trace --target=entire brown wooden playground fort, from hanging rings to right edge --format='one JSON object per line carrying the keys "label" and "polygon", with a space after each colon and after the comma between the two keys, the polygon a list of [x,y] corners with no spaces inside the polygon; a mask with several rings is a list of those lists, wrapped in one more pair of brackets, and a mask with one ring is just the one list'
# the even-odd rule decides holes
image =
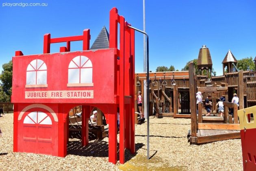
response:
{"label": "entire brown wooden playground fort, from hanging rings to right edge", "polygon": [[[206,48],[200,49],[199,56],[203,49]],[[231,52],[229,51],[228,54]],[[223,60],[223,76],[208,78],[196,75],[193,63],[189,64],[189,71],[150,73],[150,104],[148,104],[150,115],[191,118],[191,131],[188,136],[193,144],[240,138],[237,111],[256,105],[256,76],[252,71],[234,71],[236,66],[228,61],[228,54]],[[208,51],[208,58],[209,56]],[[199,62],[200,60],[199,58]],[[197,64],[200,69],[211,69],[211,65],[206,67]],[[225,66],[228,67],[227,73]],[[138,92],[141,91],[143,94],[146,90],[145,80],[146,73],[135,73],[135,110]],[[207,113],[204,103],[198,104],[197,110],[195,98],[197,91],[202,92],[203,102],[208,95],[212,96],[211,116],[204,116]],[[233,93],[239,97],[239,106],[231,103]],[[222,117],[216,106],[220,97],[225,97]],[[135,123],[137,123],[136,117]]]}

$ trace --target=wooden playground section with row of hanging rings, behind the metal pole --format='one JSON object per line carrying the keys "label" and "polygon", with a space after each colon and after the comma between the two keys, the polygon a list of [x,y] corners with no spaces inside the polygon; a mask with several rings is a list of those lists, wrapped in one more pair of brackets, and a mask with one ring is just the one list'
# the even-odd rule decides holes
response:
{"label": "wooden playground section with row of hanging rings, behind the metal pole", "polygon": [[[150,73],[149,77],[150,115],[190,117],[188,71]],[[135,74],[135,102],[138,92],[144,94],[145,90],[146,73]]]}

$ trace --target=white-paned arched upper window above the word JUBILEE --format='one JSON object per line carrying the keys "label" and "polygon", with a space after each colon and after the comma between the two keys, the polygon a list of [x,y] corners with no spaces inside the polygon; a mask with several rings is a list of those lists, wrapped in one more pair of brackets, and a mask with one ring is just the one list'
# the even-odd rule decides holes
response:
{"label": "white-paned arched upper window above the word JUBILEE", "polygon": [[40,59],[28,64],[26,87],[47,87],[47,67]]}

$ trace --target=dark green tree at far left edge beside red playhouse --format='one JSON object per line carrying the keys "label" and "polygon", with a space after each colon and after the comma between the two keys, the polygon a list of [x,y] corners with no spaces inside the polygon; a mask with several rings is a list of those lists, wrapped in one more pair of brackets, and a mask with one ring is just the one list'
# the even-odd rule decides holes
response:
{"label": "dark green tree at far left edge beside red playhouse", "polygon": [[0,102],[11,102],[11,87],[13,79],[13,62],[2,65],[3,71],[0,75]]}

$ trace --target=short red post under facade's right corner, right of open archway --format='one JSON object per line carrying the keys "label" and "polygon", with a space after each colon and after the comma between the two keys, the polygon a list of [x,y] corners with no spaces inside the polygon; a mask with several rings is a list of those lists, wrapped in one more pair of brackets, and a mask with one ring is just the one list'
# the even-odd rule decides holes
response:
{"label": "short red post under facade's right corner, right of open archway", "polygon": [[108,161],[117,163],[117,106],[111,105],[108,113]]}

